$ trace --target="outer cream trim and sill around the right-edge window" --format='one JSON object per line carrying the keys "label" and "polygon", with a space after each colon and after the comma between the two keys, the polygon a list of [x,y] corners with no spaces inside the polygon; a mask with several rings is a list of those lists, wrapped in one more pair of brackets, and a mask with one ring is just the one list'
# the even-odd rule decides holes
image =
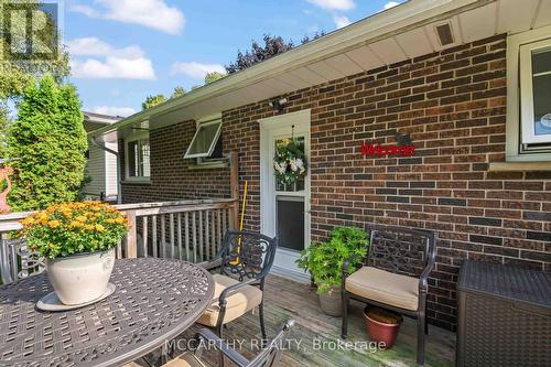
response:
{"label": "outer cream trim and sill around the right-edge window", "polygon": [[551,37],[551,25],[542,26],[507,37],[507,122],[506,161],[541,162],[551,161],[551,153],[522,154],[520,152],[520,46]]}

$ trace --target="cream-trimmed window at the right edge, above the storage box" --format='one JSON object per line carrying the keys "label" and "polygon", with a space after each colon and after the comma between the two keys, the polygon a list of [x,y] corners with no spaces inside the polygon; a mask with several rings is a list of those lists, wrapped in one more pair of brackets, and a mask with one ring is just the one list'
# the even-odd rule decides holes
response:
{"label": "cream-trimmed window at the right edge, above the storage box", "polygon": [[551,161],[551,26],[507,37],[506,161]]}

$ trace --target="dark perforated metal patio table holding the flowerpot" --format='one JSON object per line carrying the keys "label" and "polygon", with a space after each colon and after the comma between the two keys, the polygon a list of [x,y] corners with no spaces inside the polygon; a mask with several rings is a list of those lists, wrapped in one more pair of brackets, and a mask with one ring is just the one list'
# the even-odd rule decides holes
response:
{"label": "dark perforated metal patio table holding the flowerpot", "polygon": [[117,289],[73,311],[44,312],[45,273],[0,285],[0,366],[121,366],[190,327],[210,304],[214,281],[195,265],[121,259]]}

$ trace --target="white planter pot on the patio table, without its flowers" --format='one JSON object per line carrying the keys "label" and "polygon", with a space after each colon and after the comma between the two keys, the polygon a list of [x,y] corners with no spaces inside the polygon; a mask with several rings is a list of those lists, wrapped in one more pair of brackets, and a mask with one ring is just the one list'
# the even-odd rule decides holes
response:
{"label": "white planter pot on the patio table, without its flowers", "polygon": [[115,265],[115,248],[46,260],[50,283],[64,304],[82,304],[99,299],[107,289]]}

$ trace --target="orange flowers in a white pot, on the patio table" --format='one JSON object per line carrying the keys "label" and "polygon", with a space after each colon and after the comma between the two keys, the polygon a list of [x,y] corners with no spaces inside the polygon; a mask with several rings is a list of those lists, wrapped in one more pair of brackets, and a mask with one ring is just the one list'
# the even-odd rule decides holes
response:
{"label": "orange flowers in a white pot, on the patio table", "polygon": [[46,260],[46,272],[60,301],[67,305],[99,299],[115,263],[115,247],[128,220],[99,202],[52,205],[21,222],[29,247]]}

